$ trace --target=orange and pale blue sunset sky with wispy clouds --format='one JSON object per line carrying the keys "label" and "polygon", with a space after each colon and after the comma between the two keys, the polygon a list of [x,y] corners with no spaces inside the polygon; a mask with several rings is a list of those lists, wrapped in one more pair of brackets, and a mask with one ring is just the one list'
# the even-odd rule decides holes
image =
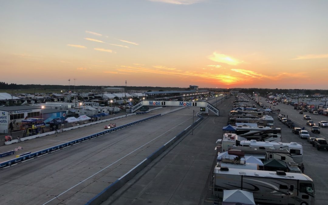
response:
{"label": "orange and pale blue sunset sky with wispy clouds", "polygon": [[327,0],[1,1],[0,81],[328,89]]}

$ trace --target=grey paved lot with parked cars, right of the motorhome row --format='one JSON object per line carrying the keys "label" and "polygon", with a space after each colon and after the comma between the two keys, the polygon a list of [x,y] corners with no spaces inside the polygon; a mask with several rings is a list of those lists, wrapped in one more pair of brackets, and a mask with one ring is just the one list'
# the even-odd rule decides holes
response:
{"label": "grey paved lot with parked cars, right of the motorhome row", "polygon": [[[266,106],[271,106],[272,104],[267,103],[264,99],[260,99],[260,102]],[[303,128],[310,133],[310,137],[318,137],[328,139],[328,128],[321,128],[320,133],[311,133],[311,126],[306,125],[306,121],[303,118],[304,114],[308,114],[316,125],[321,120],[328,120],[327,116],[314,115],[308,112],[299,114],[297,110],[294,110],[293,106],[278,104],[274,106],[273,109],[280,109],[280,114],[285,114],[288,119],[291,119],[295,123],[295,127]],[[310,176],[315,184],[316,190],[316,204],[327,204],[328,200],[328,175],[326,171],[328,169],[328,152],[325,150],[318,151],[312,146],[306,139],[301,139],[298,134],[292,133],[292,128],[288,128],[286,125],[282,124],[277,119],[277,114],[272,114],[275,119],[275,126],[281,128],[282,130],[282,142],[297,142],[303,145],[303,163],[305,166],[304,174]]]}

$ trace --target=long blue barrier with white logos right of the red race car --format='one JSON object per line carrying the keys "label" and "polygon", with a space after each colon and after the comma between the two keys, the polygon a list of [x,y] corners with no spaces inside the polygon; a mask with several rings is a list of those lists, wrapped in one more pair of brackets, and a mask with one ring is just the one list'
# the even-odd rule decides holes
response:
{"label": "long blue barrier with white logos right of the red race car", "polygon": [[137,123],[140,123],[140,122],[144,122],[144,121],[147,121],[147,120],[159,117],[159,116],[161,116],[161,114],[156,114],[154,116],[147,117],[147,118],[135,121],[135,122],[131,122],[131,123],[128,123],[128,124],[125,124],[125,125],[114,127],[112,129],[108,129],[108,130],[100,132],[100,133],[95,133],[95,134],[92,134],[92,135],[89,135],[89,136],[86,136],[86,137],[82,137],[82,138],[79,138],[79,139],[74,139],[70,142],[65,142],[63,144],[59,144],[59,145],[56,145],[54,147],[49,147],[47,149],[40,150],[40,151],[37,151],[37,152],[34,152],[34,153],[28,153],[28,154],[25,154],[24,156],[17,155],[19,157],[0,163],[0,169],[11,166],[13,164],[16,164],[16,163],[19,163],[19,162],[22,162],[22,161],[25,161],[27,159],[31,159],[31,158],[34,158],[34,157],[41,156],[43,154],[48,154],[50,152],[60,150],[64,147],[68,147],[68,146],[71,146],[73,144],[80,143],[80,142],[95,138],[97,136],[101,136],[101,135],[104,135],[104,134],[107,134],[107,133],[111,133],[113,131],[116,131],[116,130],[119,130],[119,129],[122,129],[122,128],[126,128],[126,127],[129,127],[131,125],[134,125],[134,124],[137,124]]}

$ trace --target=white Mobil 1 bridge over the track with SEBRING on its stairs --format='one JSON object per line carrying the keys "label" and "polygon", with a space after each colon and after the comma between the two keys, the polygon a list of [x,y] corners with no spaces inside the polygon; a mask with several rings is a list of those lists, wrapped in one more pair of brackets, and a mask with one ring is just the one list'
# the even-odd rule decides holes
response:
{"label": "white Mobil 1 bridge over the track with SEBRING on its stairs", "polygon": [[131,112],[139,110],[142,106],[177,106],[177,107],[199,107],[201,111],[208,113],[211,111],[219,116],[220,110],[209,102],[191,102],[191,101],[156,101],[143,100],[131,108]]}

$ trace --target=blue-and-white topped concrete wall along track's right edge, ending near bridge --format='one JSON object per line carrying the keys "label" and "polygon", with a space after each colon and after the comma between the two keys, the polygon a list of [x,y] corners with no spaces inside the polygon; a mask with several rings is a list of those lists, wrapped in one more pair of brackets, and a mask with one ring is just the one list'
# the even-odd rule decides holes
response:
{"label": "blue-and-white topped concrete wall along track's right edge, ending near bridge", "polygon": [[[199,115],[197,113],[197,116],[199,117],[198,120],[194,122],[194,126],[198,124],[202,119],[203,116]],[[85,205],[98,205],[102,202],[106,201],[109,196],[111,196],[116,190],[120,189],[126,182],[131,180],[138,172],[143,170],[147,165],[149,165],[156,157],[158,157],[160,154],[162,154],[165,150],[167,150],[171,145],[173,145],[178,139],[180,139],[183,135],[185,135],[189,130],[192,129],[192,126],[189,126],[185,130],[183,130],[181,133],[173,137],[171,140],[166,142],[163,146],[158,148],[155,152],[150,154],[147,158],[145,158],[143,161],[141,161],[138,165],[133,167],[129,172],[118,178],[113,184],[106,187],[102,192],[100,192],[98,195],[94,196],[90,201],[88,201]]]}

